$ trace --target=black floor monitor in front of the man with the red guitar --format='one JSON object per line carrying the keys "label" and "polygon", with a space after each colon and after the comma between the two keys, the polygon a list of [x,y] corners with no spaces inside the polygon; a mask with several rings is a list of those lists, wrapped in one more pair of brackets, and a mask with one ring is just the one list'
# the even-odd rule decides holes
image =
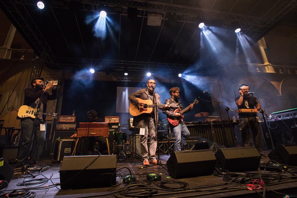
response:
{"label": "black floor monitor in front of the man with the red guitar", "polygon": [[177,151],[167,160],[170,176],[180,179],[211,175],[216,166],[216,158],[211,150]]}

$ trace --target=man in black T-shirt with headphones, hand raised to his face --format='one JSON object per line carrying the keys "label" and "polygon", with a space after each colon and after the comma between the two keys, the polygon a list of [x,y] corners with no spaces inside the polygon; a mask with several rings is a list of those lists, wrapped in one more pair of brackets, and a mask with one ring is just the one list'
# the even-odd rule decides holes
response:
{"label": "man in black T-shirt with headphones, hand raised to his face", "polygon": [[[260,105],[256,101],[256,98],[250,96],[250,88],[247,84],[239,85],[239,94],[235,98],[235,103],[239,109],[253,109],[254,112],[258,113],[261,109]],[[254,139],[254,146],[259,151],[261,150],[261,126],[260,118],[255,113],[239,113],[239,126],[241,130],[241,139],[244,146],[249,146],[249,129],[251,128],[252,136]]]}

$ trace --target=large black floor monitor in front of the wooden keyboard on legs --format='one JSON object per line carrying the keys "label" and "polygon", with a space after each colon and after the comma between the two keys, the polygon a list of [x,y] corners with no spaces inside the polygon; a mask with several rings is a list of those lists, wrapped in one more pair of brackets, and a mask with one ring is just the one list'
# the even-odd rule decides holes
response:
{"label": "large black floor monitor in front of the wooden keyboard on legs", "polygon": [[[115,185],[116,174],[113,173],[117,167],[117,156],[100,155],[97,157],[97,155],[63,157],[60,168],[61,189],[97,188]],[[88,166],[90,163],[92,164]],[[87,166],[88,168],[86,168]],[[84,168],[86,169],[83,170]]]}

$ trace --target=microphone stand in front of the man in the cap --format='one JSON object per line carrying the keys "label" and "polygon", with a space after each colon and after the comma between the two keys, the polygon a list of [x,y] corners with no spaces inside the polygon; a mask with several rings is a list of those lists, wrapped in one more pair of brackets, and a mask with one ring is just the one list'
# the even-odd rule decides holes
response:
{"label": "microphone stand in front of the man in the cap", "polygon": [[[42,90],[41,96],[39,97],[39,101],[38,101],[38,103],[37,103],[37,105],[36,105],[36,109],[37,109],[37,110],[36,110],[36,116],[35,116],[35,118],[34,118],[33,128],[32,128],[32,131],[31,131],[31,137],[30,137],[30,143],[29,143],[29,147],[30,147],[30,149],[28,149],[28,153],[27,153],[26,158],[25,158],[25,161],[24,161],[24,164],[25,164],[25,165],[21,167],[21,171],[26,172],[27,174],[31,175],[32,178],[35,178],[36,175],[32,175],[32,174],[28,171],[28,165],[27,165],[27,163],[28,163],[28,157],[29,157],[29,155],[30,155],[30,151],[31,151],[31,149],[33,148],[33,146],[32,146],[32,143],[33,143],[33,134],[34,134],[34,131],[35,131],[35,128],[36,128],[36,123],[37,123],[37,118],[38,118],[38,111],[39,111],[40,105],[41,105],[41,103],[42,103],[42,99],[43,99],[43,96],[44,96],[44,90],[45,90],[45,87],[46,87],[46,85],[47,85],[47,82],[48,82],[48,81],[45,82],[45,85],[44,85],[44,88],[43,88],[43,90]],[[30,119],[30,118],[29,118],[29,119]]]}

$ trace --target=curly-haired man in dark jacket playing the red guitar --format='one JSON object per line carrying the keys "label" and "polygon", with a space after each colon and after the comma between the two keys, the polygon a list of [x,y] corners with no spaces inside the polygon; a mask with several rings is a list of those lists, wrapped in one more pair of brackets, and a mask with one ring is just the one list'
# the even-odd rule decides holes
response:
{"label": "curly-haired man in dark jacket playing the red guitar", "polygon": [[[179,103],[179,88],[173,87],[169,90],[169,94],[171,95],[170,98],[168,98],[165,101],[165,104],[178,104]],[[189,109],[191,110],[193,108],[193,104],[189,105]],[[174,113],[174,110],[180,109],[182,110],[182,105],[179,104],[178,107],[170,106],[168,110],[164,110],[163,114],[166,114],[167,117],[175,117],[178,118],[181,116],[179,113]],[[169,123],[170,131],[173,132],[175,141],[174,141],[174,151],[182,151],[184,149],[184,146],[187,142],[187,139],[190,136],[190,132],[187,128],[187,126],[183,123],[183,120],[180,120],[179,123],[174,126]]]}

